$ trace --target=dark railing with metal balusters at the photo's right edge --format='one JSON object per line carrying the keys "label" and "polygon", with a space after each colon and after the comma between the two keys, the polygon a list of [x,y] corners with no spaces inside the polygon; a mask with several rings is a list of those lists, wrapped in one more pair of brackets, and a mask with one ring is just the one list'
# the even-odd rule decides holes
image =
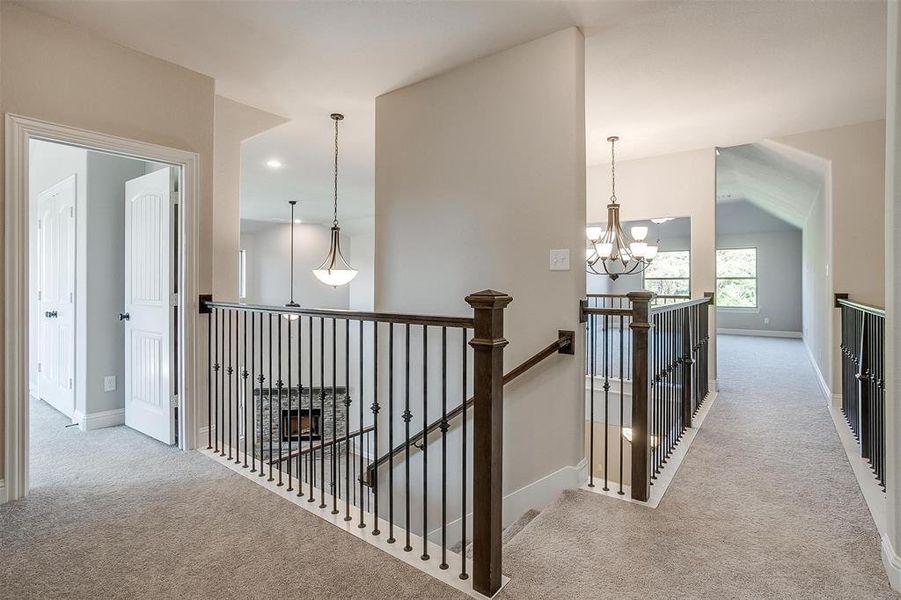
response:
{"label": "dark railing with metal balusters at the photo's right edge", "polygon": [[885,309],[835,294],[841,310],[842,414],[885,491]]}

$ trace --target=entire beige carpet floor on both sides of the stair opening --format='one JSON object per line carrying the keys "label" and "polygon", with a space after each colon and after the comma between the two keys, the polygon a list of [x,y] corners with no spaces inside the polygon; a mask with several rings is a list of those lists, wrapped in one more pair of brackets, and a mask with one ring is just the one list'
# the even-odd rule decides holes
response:
{"label": "entire beige carpet floor on both sides of the stair opening", "polygon": [[[505,600],[897,598],[801,344],[720,342],[720,397],[660,507],[563,494],[505,547]],[[0,598],[463,597],[197,453],[32,411]]]}

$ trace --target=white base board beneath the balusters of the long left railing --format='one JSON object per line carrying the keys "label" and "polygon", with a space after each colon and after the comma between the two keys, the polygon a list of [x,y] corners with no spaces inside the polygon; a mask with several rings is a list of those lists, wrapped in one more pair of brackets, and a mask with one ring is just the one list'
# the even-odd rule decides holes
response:
{"label": "white base board beneath the balusters of the long left railing", "polygon": [[[220,449],[223,452],[225,452],[228,450],[228,446],[220,445]],[[206,448],[204,448],[202,450],[198,450],[198,452],[209,457],[211,460],[214,460],[217,463],[231,469],[235,473],[239,473],[240,475],[243,475],[250,481],[256,483],[259,486],[266,488],[273,494],[277,494],[279,497],[284,498],[285,500],[288,500],[289,502],[294,503],[295,505],[299,506],[300,508],[304,509],[305,511],[316,515],[320,519],[323,519],[324,521],[328,521],[329,523],[331,523],[335,527],[341,529],[342,531],[349,533],[350,535],[355,536],[357,538],[360,538],[364,542],[366,542],[372,546],[375,546],[379,550],[386,552],[387,554],[390,554],[394,558],[405,562],[406,564],[410,565],[411,567],[416,568],[419,571],[422,571],[426,575],[430,575],[430,576],[434,577],[435,579],[441,581],[442,583],[449,585],[450,587],[454,588],[455,590],[459,590],[459,591],[463,592],[464,594],[470,596],[471,598],[478,598],[480,600],[484,600],[486,598],[486,596],[483,596],[482,594],[480,594],[480,593],[476,592],[474,589],[472,589],[472,561],[466,560],[466,572],[470,574],[469,579],[466,579],[466,580],[460,579],[458,577],[458,575],[460,573],[460,568],[462,566],[460,561],[465,560],[465,559],[463,559],[463,557],[458,554],[448,552],[447,553],[448,568],[446,570],[439,569],[438,565],[440,564],[439,561],[440,561],[440,557],[441,557],[441,546],[439,546],[438,544],[436,544],[434,542],[430,541],[429,545],[428,545],[429,555],[432,557],[432,559],[431,560],[422,560],[420,558],[420,552],[415,552],[415,551],[414,552],[404,552],[402,543],[395,542],[393,544],[389,544],[386,541],[388,539],[387,532],[388,532],[389,523],[385,519],[380,518],[378,521],[379,529],[381,530],[382,533],[377,536],[372,535],[372,527],[371,526],[367,526],[367,527],[358,527],[357,526],[357,524],[359,523],[359,510],[360,510],[359,507],[355,507],[353,509],[354,510],[354,519],[352,521],[345,521],[343,512],[341,512],[337,515],[333,515],[332,511],[331,511],[332,495],[329,494],[328,492],[325,493],[326,508],[319,508],[318,502],[307,502],[308,492],[305,491],[304,496],[297,496],[297,493],[294,491],[291,491],[291,492],[286,491],[286,488],[288,488],[288,487],[296,488],[298,485],[300,485],[300,482],[298,481],[298,479],[296,477],[291,477],[291,484],[288,485],[288,476],[286,473],[283,473],[285,485],[282,487],[278,487],[278,485],[276,485],[277,481],[267,481],[267,479],[268,479],[267,477],[258,477],[257,473],[253,473],[250,471],[250,469],[245,469],[241,466],[241,464],[238,464],[235,462],[236,460],[239,460],[239,459],[245,459],[245,460],[247,460],[248,463],[251,462],[252,460],[258,460],[256,458],[251,457],[250,455],[247,455],[245,457],[243,452],[233,451],[232,453],[234,454],[234,457],[231,460],[229,460],[225,456],[220,456],[219,452],[216,452],[215,450],[207,450]],[[229,454],[228,452],[226,452],[226,453]],[[309,485],[309,483],[304,484],[305,489],[308,485]],[[321,494],[321,490],[316,487],[314,487],[313,490],[314,490],[314,494],[316,495],[316,497],[319,497],[319,495]],[[344,506],[344,500],[339,500],[338,505]],[[371,525],[371,523],[373,522],[372,514],[364,511],[363,512],[363,521],[367,525]],[[406,531],[403,528],[398,527],[397,523],[394,524],[394,531],[395,531],[394,537],[397,540],[401,540],[402,536],[406,536]],[[410,540],[411,540],[410,544],[413,546],[413,548],[422,548],[422,537],[411,533]],[[502,577],[500,589],[504,589],[504,586],[507,585],[508,581],[510,581],[509,577]],[[498,592],[500,592],[500,590],[498,590]]]}

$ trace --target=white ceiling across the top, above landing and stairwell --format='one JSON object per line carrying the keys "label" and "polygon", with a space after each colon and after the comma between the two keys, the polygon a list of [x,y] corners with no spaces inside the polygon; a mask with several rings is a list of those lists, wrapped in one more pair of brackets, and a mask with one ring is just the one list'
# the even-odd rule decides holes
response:
{"label": "white ceiling across the top, above landing and stairwell", "polygon": [[[375,97],[571,25],[586,42],[588,163],[881,118],[885,5],[863,2],[115,2],[23,4],[208,74],[291,122],[244,148],[242,217],[373,213]],[[269,158],[284,163],[279,171]]]}

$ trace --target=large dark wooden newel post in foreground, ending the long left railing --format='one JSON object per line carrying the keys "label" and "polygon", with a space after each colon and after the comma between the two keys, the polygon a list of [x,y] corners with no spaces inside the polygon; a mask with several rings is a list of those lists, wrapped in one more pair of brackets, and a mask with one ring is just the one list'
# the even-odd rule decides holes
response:
{"label": "large dark wooden newel post in foreground, ending the long left railing", "polygon": [[473,338],[472,586],[489,598],[501,587],[504,448],[504,309],[507,294],[485,290],[466,297]]}

